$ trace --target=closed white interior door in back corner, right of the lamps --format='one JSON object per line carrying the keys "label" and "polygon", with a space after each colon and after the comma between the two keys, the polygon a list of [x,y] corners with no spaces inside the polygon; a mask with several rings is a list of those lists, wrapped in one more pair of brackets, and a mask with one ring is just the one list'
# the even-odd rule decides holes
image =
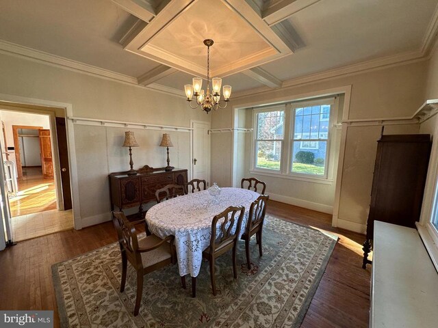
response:
{"label": "closed white interior door in back corner, right of the lamps", "polygon": [[209,182],[210,174],[210,136],[209,122],[192,122],[193,128],[193,159],[192,178]]}

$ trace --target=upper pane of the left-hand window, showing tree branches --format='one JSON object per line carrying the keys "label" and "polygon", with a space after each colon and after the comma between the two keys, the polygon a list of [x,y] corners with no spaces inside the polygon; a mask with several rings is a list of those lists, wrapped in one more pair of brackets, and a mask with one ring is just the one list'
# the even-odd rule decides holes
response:
{"label": "upper pane of the left-hand window, showing tree branches", "polygon": [[257,114],[257,139],[283,139],[284,111]]}

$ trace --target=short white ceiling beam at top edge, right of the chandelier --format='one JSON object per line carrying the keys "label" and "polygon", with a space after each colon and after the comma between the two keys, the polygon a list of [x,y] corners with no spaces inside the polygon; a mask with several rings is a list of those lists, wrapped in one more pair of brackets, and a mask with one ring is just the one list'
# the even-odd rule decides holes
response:
{"label": "short white ceiling beam at top edge, right of the chandelier", "polygon": [[282,0],[263,8],[261,18],[269,25],[275,25],[289,18],[296,12],[303,10],[320,0]]}

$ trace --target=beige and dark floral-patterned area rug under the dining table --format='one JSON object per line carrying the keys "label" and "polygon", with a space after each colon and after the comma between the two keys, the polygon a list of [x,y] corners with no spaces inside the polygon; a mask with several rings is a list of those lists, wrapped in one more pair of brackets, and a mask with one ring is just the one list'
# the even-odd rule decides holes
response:
{"label": "beige and dark floral-patterned area rug under the dining table", "polygon": [[[115,233],[115,232],[114,232]],[[144,276],[140,314],[132,315],[136,273],[128,264],[120,292],[118,243],[54,264],[53,282],[62,327],[299,327],[337,237],[266,217],[263,256],[251,241],[252,269],[244,242],[237,250],[237,279],[231,253],[216,260],[216,297],[209,264],[196,281],[196,298],[181,287],[177,265]]]}

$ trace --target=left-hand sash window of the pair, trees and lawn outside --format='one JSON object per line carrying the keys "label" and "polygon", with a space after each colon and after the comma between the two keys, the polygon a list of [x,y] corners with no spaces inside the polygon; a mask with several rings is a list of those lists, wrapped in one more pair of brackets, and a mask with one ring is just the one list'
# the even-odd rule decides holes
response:
{"label": "left-hand sash window of the pair, trees and lawn outside", "polygon": [[284,138],[285,111],[256,114],[255,167],[279,171]]}

